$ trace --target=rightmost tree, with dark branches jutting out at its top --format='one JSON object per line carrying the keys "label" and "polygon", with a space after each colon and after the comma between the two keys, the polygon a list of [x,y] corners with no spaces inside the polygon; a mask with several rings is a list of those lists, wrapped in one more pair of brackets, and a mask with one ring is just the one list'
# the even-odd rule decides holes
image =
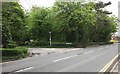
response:
{"label": "rightmost tree, with dark branches jutting out at its top", "polygon": [[[98,2],[96,3],[95,6],[95,11],[96,11],[96,24],[94,26],[94,29],[92,31],[92,41],[93,42],[109,42],[111,39],[112,33],[117,31],[115,27],[116,25],[116,19],[114,18],[111,20],[111,12],[109,11],[104,11],[103,9],[110,5],[111,2],[108,3],[103,3],[103,2]],[[110,23],[114,22],[114,23]],[[114,30],[114,31],[113,31]]]}

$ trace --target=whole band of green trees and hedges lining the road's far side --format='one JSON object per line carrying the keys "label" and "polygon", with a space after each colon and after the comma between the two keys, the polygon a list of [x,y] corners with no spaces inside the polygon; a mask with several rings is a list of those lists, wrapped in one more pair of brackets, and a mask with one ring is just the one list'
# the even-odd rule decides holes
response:
{"label": "whole band of green trees and hedges lining the road's far side", "polygon": [[[111,2],[55,2],[25,12],[17,2],[2,3],[2,60],[24,58],[31,47],[87,47],[109,44],[117,18],[104,10]],[[51,46],[49,44],[51,33]]]}

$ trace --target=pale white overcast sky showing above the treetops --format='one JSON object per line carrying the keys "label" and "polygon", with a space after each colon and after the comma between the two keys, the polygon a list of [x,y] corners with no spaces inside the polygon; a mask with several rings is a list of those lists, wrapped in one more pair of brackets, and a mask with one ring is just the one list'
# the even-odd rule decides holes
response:
{"label": "pale white overcast sky showing above the treetops", "polygon": [[[101,0],[103,2],[111,2],[112,4],[106,9],[113,12],[113,15],[118,16],[118,2],[120,0]],[[20,0],[20,4],[26,9],[30,10],[32,5],[51,7],[54,4],[55,0]]]}

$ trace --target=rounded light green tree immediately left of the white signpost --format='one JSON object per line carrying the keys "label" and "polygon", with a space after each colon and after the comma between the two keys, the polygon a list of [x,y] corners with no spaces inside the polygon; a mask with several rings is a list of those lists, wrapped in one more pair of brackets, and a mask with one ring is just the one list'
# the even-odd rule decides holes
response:
{"label": "rounded light green tree immediately left of the white signpost", "polygon": [[50,10],[43,7],[33,7],[28,16],[28,29],[31,39],[46,42],[49,39],[49,31],[52,31],[50,23]]}

